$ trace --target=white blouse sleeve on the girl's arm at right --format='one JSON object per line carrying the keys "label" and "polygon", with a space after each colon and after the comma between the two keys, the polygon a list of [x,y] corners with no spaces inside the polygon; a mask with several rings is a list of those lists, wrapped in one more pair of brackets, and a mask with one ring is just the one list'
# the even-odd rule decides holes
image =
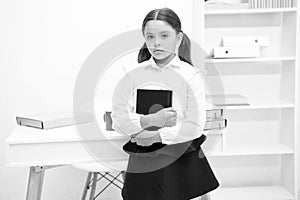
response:
{"label": "white blouse sleeve on the girl's arm at right", "polygon": [[183,120],[158,131],[164,144],[187,142],[203,134],[206,122],[205,87],[200,72],[195,73],[187,85],[187,108]]}

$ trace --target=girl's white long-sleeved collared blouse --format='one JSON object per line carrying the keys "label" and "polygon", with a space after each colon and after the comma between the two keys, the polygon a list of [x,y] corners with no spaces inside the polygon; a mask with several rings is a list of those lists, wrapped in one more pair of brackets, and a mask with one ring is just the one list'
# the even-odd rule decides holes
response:
{"label": "girl's white long-sleeved collared blouse", "polygon": [[137,89],[173,91],[172,107],[177,123],[158,130],[162,143],[176,144],[198,138],[206,121],[205,84],[201,72],[175,56],[160,68],[153,58],[127,71],[117,85],[112,100],[112,127],[120,134],[132,136],[143,130],[141,114],[135,112]]}

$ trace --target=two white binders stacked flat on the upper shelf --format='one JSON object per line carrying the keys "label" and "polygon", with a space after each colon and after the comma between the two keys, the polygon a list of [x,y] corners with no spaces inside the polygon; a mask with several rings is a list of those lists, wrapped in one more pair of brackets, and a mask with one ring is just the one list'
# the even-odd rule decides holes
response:
{"label": "two white binders stacked flat on the upper shelf", "polygon": [[260,56],[260,47],[268,46],[267,36],[224,36],[213,48],[212,58],[253,58]]}

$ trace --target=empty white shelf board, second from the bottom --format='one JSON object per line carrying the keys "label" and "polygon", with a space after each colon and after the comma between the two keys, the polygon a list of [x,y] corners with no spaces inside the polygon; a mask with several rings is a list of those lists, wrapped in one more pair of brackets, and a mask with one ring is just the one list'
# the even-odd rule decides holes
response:
{"label": "empty white shelf board, second from the bottom", "polygon": [[277,145],[257,145],[257,146],[240,146],[240,147],[225,147],[223,152],[211,152],[208,156],[247,156],[247,155],[283,155],[294,154],[292,148],[277,144]]}

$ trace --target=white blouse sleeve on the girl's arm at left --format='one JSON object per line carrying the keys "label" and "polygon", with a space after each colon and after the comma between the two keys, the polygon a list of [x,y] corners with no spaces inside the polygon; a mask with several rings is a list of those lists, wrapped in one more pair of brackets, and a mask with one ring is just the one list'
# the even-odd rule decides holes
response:
{"label": "white blouse sleeve on the girl's arm at left", "polygon": [[134,84],[125,75],[117,85],[112,98],[112,128],[122,135],[131,136],[143,130],[141,114],[134,112]]}

